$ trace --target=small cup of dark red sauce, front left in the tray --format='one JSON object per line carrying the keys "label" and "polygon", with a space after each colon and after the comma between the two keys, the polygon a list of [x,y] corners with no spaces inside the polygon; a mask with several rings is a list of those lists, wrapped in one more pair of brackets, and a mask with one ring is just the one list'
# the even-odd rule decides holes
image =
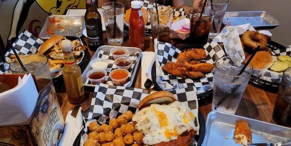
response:
{"label": "small cup of dark red sauce, front left in the tray", "polygon": [[92,69],[86,74],[87,79],[91,81],[93,85],[96,85],[99,82],[104,83],[106,75],[107,72],[104,69]]}

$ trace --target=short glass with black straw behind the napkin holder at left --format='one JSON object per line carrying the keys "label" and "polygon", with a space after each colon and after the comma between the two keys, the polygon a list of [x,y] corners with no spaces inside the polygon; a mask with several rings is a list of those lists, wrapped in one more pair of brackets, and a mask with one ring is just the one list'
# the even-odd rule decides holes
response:
{"label": "short glass with black straw behind the napkin holder at left", "polygon": [[49,60],[41,54],[28,54],[19,57],[27,72],[23,70],[17,59],[13,60],[9,69],[13,74],[33,74],[35,78],[50,79]]}

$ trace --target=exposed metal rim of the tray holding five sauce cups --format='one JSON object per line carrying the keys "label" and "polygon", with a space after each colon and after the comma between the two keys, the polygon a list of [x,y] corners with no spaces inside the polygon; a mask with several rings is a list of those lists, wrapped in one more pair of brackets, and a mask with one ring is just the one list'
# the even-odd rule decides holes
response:
{"label": "exposed metal rim of the tray holding five sauce cups", "polygon": [[[91,58],[90,62],[93,60],[93,59],[96,59],[98,58],[98,53],[100,50],[103,50],[103,51],[106,51],[106,52],[110,52],[110,49],[114,48],[116,46],[107,46],[107,45],[104,45],[104,46],[100,46],[96,52],[94,53],[93,57]],[[128,49],[128,54],[134,54],[136,52],[139,52],[139,56],[136,60],[136,63],[135,63],[135,66],[133,68],[133,72],[131,74],[131,78],[130,78],[130,82],[129,84],[127,85],[127,87],[132,87],[134,85],[134,81],[135,81],[135,78],[136,78],[136,75],[137,75],[137,68],[138,68],[138,65],[140,63],[140,60],[141,60],[141,57],[142,57],[142,50],[139,49],[139,48],[133,48],[133,47],[125,47],[126,49]],[[84,83],[84,86],[86,87],[91,87],[91,88],[95,88],[96,85],[92,85],[92,84],[85,84],[85,82],[87,81],[87,77],[86,77],[86,74],[88,71],[90,71],[92,69],[92,67],[90,66],[90,62],[88,63],[87,67],[85,68],[85,70],[83,71],[82,73],[82,81]]]}

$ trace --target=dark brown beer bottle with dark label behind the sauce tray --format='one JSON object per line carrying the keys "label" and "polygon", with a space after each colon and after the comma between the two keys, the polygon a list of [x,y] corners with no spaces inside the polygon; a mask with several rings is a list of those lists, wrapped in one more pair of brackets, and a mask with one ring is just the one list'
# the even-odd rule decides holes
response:
{"label": "dark brown beer bottle with dark label behind the sauce tray", "polygon": [[104,45],[101,15],[97,11],[95,0],[86,0],[85,25],[89,49],[95,52]]}

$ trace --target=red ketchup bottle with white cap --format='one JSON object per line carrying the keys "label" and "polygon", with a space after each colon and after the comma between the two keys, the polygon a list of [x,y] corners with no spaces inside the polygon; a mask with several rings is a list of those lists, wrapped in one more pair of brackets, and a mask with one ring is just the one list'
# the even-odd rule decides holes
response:
{"label": "red ketchup bottle with white cap", "polygon": [[129,44],[131,47],[140,48],[144,51],[145,23],[141,7],[141,1],[131,1],[131,11],[129,16]]}

